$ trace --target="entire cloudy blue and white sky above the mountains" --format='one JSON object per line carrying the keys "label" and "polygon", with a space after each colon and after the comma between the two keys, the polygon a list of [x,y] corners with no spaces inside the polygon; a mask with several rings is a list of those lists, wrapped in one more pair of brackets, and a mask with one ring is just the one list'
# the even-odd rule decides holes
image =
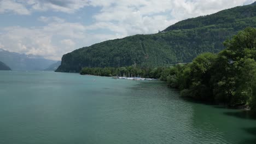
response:
{"label": "entire cloudy blue and white sky above the mountains", "polygon": [[101,41],[151,34],[255,0],[0,0],[0,49],[61,60]]}

